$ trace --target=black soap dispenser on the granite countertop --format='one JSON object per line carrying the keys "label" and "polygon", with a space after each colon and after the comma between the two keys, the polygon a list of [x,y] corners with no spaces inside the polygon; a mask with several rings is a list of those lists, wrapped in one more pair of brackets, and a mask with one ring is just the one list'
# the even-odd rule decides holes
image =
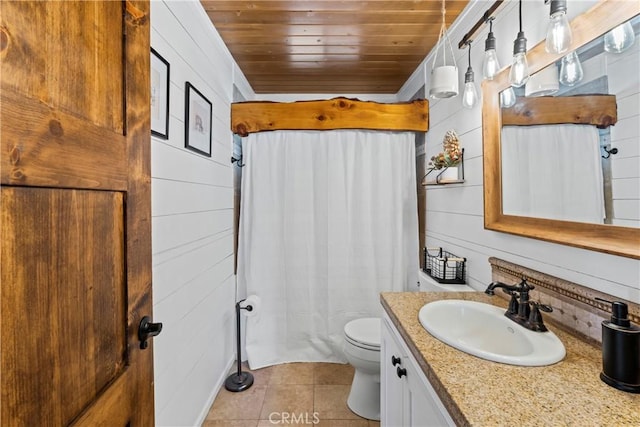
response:
{"label": "black soap dispenser on the granite countertop", "polygon": [[596,299],[611,304],[611,320],[602,322],[600,379],[618,390],[640,393],[640,328],[631,324],[627,304]]}

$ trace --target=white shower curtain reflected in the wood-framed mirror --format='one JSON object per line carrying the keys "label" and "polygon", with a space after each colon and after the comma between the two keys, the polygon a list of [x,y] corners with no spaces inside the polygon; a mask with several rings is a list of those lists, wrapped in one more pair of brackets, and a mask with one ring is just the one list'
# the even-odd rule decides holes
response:
{"label": "white shower curtain reflected in the wood-framed mirror", "polygon": [[600,159],[594,126],[503,127],[503,213],[603,224]]}

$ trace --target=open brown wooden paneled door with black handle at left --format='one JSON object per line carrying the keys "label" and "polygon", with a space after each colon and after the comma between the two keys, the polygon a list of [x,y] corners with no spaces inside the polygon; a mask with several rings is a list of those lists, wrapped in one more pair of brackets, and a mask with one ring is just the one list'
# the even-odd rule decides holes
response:
{"label": "open brown wooden paneled door with black handle at left", "polygon": [[2,1],[0,425],[152,426],[149,4]]}

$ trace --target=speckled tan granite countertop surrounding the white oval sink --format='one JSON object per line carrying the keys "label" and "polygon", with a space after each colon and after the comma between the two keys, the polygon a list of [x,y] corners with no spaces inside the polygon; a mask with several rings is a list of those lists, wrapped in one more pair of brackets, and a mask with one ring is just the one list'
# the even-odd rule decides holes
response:
{"label": "speckled tan granite countertop surrounding the white oval sink", "polygon": [[600,348],[547,323],[567,355],[550,366],[520,367],[471,356],[432,337],[418,311],[464,299],[506,307],[479,292],[383,292],[385,311],[456,424],[473,426],[640,426],[640,394],[600,380]]}

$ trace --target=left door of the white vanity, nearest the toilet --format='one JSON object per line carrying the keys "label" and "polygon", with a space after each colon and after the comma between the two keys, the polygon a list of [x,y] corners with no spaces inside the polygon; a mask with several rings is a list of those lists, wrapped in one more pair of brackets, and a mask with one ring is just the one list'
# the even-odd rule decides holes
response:
{"label": "left door of the white vanity, nearest the toilet", "polygon": [[396,342],[385,320],[382,322],[382,343],[380,346],[380,386],[382,388],[380,419],[381,425],[384,427],[404,426],[403,393],[406,381],[405,377],[398,377],[397,368],[400,364],[394,366],[392,357],[399,358],[400,364],[404,360],[400,345]]}

